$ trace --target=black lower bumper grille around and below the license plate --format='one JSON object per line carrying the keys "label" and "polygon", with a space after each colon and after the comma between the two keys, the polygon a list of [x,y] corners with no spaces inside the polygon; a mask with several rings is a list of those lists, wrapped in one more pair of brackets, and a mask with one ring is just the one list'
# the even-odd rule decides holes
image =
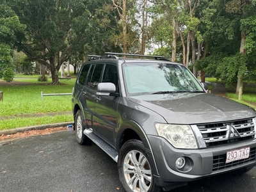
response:
{"label": "black lower bumper grille around and below the license plate", "polygon": [[256,160],[255,153],[256,153],[255,147],[251,148],[250,155],[248,158],[240,159],[240,160],[233,161],[230,163],[226,163],[227,154],[221,155],[221,156],[214,156],[213,162],[212,162],[212,172],[219,172],[221,170],[227,170],[228,168],[235,168],[235,167],[241,166],[243,164],[253,163]]}

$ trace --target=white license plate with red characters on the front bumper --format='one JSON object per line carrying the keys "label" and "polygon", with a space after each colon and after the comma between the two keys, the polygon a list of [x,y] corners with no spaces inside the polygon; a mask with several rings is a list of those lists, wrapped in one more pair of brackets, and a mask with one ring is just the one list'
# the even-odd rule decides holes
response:
{"label": "white license plate with red characters on the front bumper", "polygon": [[250,147],[239,148],[236,150],[227,151],[226,163],[237,161],[239,159],[246,159],[250,155]]}

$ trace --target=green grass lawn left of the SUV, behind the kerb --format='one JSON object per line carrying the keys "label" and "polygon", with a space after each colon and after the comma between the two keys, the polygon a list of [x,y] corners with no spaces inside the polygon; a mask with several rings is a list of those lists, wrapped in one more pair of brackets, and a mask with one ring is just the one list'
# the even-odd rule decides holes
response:
{"label": "green grass lawn left of the SUV, behind the kerb", "polygon": [[29,125],[53,124],[72,121],[72,115],[45,116],[42,118],[20,118],[19,115],[35,113],[53,113],[72,111],[71,95],[44,96],[43,93],[72,93],[76,78],[60,80],[61,85],[51,85],[51,79],[42,83],[37,81],[38,76],[15,76],[12,83],[0,80],[0,91],[3,92],[3,101],[0,102],[0,116],[17,116],[8,120],[1,120],[1,129],[13,129]]}

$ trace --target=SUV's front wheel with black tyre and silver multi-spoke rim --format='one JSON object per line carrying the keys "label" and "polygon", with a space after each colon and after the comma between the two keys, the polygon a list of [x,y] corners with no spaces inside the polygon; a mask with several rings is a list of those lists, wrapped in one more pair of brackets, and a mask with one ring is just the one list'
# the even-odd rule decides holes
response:
{"label": "SUV's front wheel with black tyre and silver multi-spoke rim", "polygon": [[146,149],[139,140],[129,140],[120,149],[118,175],[127,192],[162,191],[162,188],[156,186],[154,182]]}

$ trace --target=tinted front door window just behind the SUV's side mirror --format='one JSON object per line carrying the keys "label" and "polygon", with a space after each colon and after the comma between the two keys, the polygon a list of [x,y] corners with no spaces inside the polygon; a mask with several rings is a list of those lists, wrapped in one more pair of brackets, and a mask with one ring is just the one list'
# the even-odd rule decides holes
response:
{"label": "tinted front door window just behind the SUV's side mirror", "polygon": [[114,83],[116,86],[116,92],[118,92],[118,76],[115,65],[106,65],[102,83]]}

